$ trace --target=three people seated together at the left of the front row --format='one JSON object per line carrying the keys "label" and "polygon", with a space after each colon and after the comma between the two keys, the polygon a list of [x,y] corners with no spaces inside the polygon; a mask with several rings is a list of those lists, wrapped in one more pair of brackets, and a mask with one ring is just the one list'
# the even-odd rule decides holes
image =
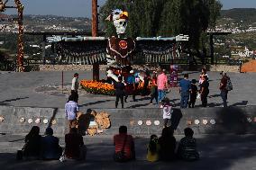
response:
{"label": "three people seated together at the left of the front row", "polygon": [[22,154],[19,151],[17,159],[42,159],[42,160],[63,160],[77,159],[85,160],[87,148],[84,145],[83,137],[78,134],[76,128],[69,130],[65,135],[65,148],[59,146],[59,139],[53,136],[53,130],[47,128],[45,135],[40,135],[40,128],[33,126],[32,130],[25,137],[25,145]]}

